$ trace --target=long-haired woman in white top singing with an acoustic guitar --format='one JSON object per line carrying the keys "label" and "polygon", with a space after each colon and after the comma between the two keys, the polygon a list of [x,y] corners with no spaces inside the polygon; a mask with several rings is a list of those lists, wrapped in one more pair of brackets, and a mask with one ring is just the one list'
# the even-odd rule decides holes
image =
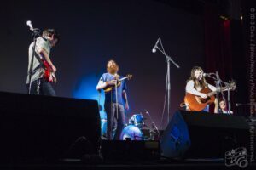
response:
{"label": "long-haired woman in white top singing with an acoustic guitar", "polygon": [[[185,105],[186,105],[187,111],[200,111],[200,110],[207,111],[207,112],[209,111],[209,105],[206,105],[205,108],[197,109],[196,106],[193,105],[194,99],[189,99],[189,98],[194,98],[194,96],[201,97],[201,99],[207,99],[208,96],[206,93],[203,93],[203,91],[216,92],[217,88],[212,86],[211,84],[207,83],[205,77],[203,77],[203,70],[201,69],[201,67],[195,66],[191,70],[191,75],[190,75],[189,80],[187,81],[187,85],[186,85],[186,94],[187,95],[185,97]],[[198,101],[198,102],[200,103],[200,101]],[[214,100],[213,100],[213,102],[214,102]],[[195,99],[195,103],[196,103],[196,99]]]}

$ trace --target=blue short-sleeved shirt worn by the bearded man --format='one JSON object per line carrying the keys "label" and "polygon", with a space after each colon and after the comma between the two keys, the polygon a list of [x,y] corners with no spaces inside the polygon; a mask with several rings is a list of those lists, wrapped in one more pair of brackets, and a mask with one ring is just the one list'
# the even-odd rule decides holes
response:
{"label": "blue short-sleeved shirt worn by the bearded man", "polygon": [[[122,77],[120,76],[119,79],[121,79]],[[109,74],[109,73],[104,73],[100,79],[100,81],[102,82],[108,82],[111,80],[115,80],[115,77],[113,77],[113,75]],[[118,103],[123,105],[124,104],[124,99],[123,99],[123,90],[126,90],[126,82],[125,80],[121,81],[121,84],[118,86],[117,88],[117,99],[118,99]],[[105,92],[105,104],[108,103],[116,103],[116,96],[115,96],[115,86],[113,86],[112,90],[109,92]]]}

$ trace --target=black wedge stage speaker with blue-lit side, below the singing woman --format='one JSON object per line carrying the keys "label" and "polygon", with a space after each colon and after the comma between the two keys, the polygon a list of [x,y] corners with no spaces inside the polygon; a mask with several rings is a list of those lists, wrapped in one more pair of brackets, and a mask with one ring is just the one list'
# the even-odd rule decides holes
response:
{"label": "black wedge stage speaker with blue-lit side, below the singing woman", "polygon": [[160,140],[162,156],[224,158],[225,152],[249,150],[249,124],[244,116],[176,111]]}

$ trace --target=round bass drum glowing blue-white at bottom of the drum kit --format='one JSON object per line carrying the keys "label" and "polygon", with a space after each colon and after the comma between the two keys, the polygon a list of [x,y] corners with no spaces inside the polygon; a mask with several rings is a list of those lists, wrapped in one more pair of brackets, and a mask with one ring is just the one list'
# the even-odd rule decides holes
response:
{"label": "round bass drum glowing blue-white at bottom of the drum kit", "polygon": [[120,140],[143,140],[143,132],[134,125],[128,125],[125,127],[120,135]]}

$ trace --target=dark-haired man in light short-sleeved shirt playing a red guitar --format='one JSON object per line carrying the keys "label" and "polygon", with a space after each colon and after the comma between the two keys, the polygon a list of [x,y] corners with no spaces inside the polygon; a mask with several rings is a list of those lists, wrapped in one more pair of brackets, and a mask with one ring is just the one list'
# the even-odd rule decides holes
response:
{"label": "dark-haired man in light short-sleeved shirt playing a red guitar", "polygon": [[[30,94],[41,94],[55,96],[55,90],[51,82],[55,82],[56,67],[50,59],[50,49],[55,47],[60,37],[54,29],[46,29],[42,37],[36,40],[35,56],[32,64],[31,91]],[[29,89],[30,67],[32,62],[34,42],[29,46],[28,51],[28,69],[26,86]]]}

